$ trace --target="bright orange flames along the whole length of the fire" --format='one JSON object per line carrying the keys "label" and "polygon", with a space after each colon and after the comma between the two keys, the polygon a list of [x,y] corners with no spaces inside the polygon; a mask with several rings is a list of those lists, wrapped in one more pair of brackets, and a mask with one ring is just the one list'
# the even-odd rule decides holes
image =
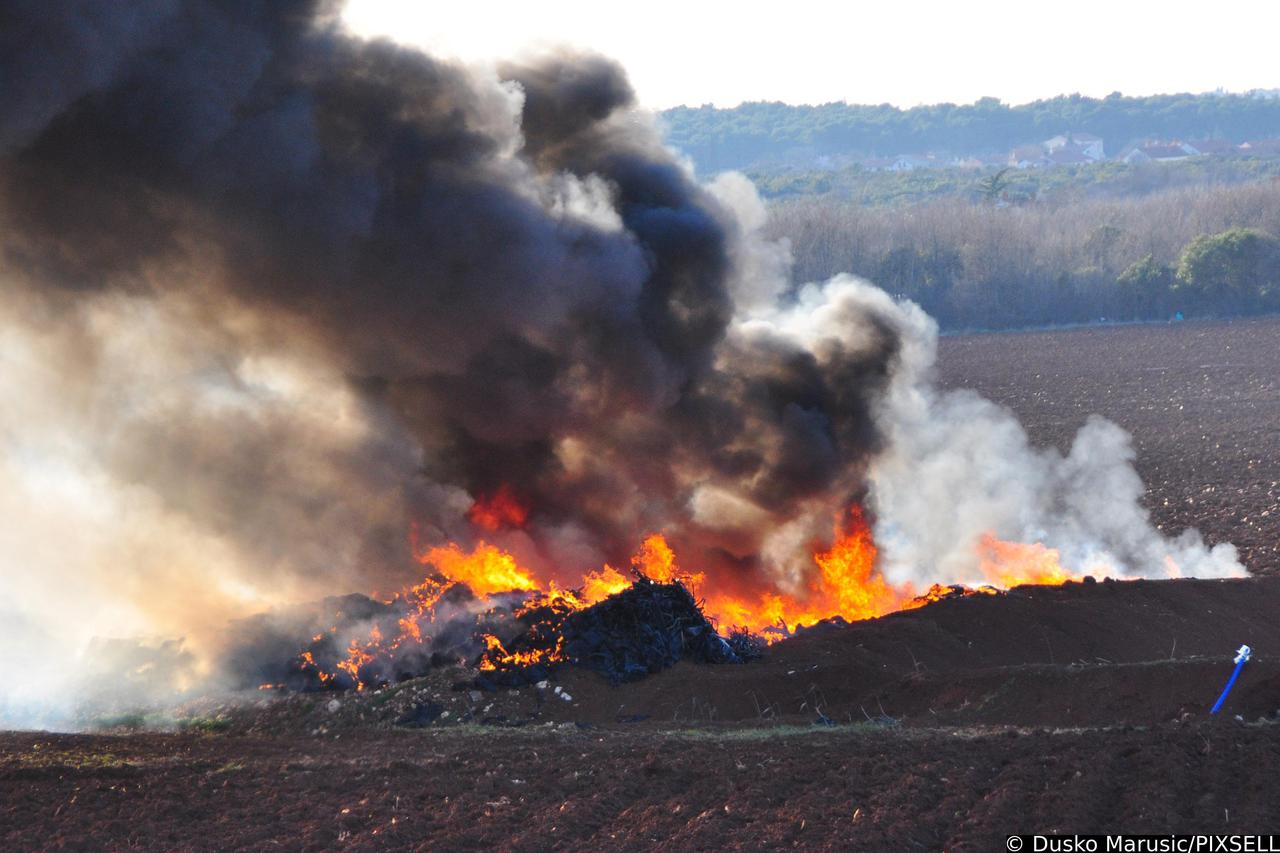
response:
{"label": "bright orange flames along the whole length of the fire", "polygon": [[[499,491],[493,498],[476,501],[468,517],[479,529],[495,530],[522,524],[527,508],[516,502],[509,491]],[[398,634],[384,635],[378,628],[370,629],[349,643],[346,657],[330,670],[321,667],[312,652],[303,652],[297,667],[314,678],[317,686],[349,684],[362,690],[376,685],[379,676],[371,676],[366,665],[380,658],[390,660],[402,649],[425,649],[436,631],[447,628],[436,621],[436,606],[448,590],[457,587],[465,587],[470,597],[479,599],[481,611],[489,601],[495,601],[493,597],[513,594],[517,603],[512,612],[518,617],[534,616],[532,630],[550,633],[550,640],[538,648],[509,651],[495,634],[476,628],[476,639],[483,646],[477,666],[481,671],[494,671],[553,665],[564,660],[563,637],[554,635],[558,620],[626,590],[641,578],[658,584],[682,584],[722,634],[745,631],[768,643],[823,620],[874,619],[948,597],[997,594],[1001,589],[1021,584],[1062,584],[1078,579],[1061,566],[1059,552],[1053,548],[1039,543],[1002,542],[987,534],[977,546],[984,585],[934,584],[928,589],[916,589],[910,583],[893,584],[881,571],[872,526],[858,505],[841,514],[832,543],[814,549],[813,571],[808,575],[806,587],[799,592],[713,588],[705,574],[686,571],[680,565],[676,552],[660,533],[650,534],[641,542],[628,571],[604,565],[586,573],[576,587],[539,578],[535,571],[520,565],[515,555],[484,539],[470,551],[449,542],[421,551],[415,548],[415,552],[419,562],[431,574],[387,602],[406,610],[397,621]],[[321,634],[314,639],[325,638]]]}

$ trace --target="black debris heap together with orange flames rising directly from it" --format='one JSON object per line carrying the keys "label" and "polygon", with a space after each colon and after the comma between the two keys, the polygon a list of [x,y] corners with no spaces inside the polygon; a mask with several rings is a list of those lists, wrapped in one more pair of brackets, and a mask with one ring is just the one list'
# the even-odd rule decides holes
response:
{"label": "black debris heap together with orange flames rising directly from it", "polygon": [[[541,584],[512,555],[480,543],[420,555],[430,574],[389,601],[352,594],[315,612],[261,615],[239,624],[228,656],[262,689],[365,690],[433,669],[474,666],[483,688],[547,679],[561,665],[628,681],[680,660],[740,663],[764,640],[746,629],[722,637],[686,584],[662,537],[645,540],[630,578],[605,566],[573,589]],[[311,639],[301,652],[297,637]],[[246,683],[246,686],[248,684]]]}

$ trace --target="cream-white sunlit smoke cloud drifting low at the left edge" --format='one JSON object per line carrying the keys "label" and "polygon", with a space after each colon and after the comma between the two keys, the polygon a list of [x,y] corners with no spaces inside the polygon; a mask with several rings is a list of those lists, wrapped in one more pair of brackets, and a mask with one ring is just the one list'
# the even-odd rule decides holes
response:
{"label": "cream-white sunlit smoke cloud drifting low at the left edge", "polygon": [[5,288],[5,725],[172,698],[211,675],[228,620],[362,585],[379,529],[403,540],[412,443],[297,341],[278,352],[287,329],[242,320]]}

